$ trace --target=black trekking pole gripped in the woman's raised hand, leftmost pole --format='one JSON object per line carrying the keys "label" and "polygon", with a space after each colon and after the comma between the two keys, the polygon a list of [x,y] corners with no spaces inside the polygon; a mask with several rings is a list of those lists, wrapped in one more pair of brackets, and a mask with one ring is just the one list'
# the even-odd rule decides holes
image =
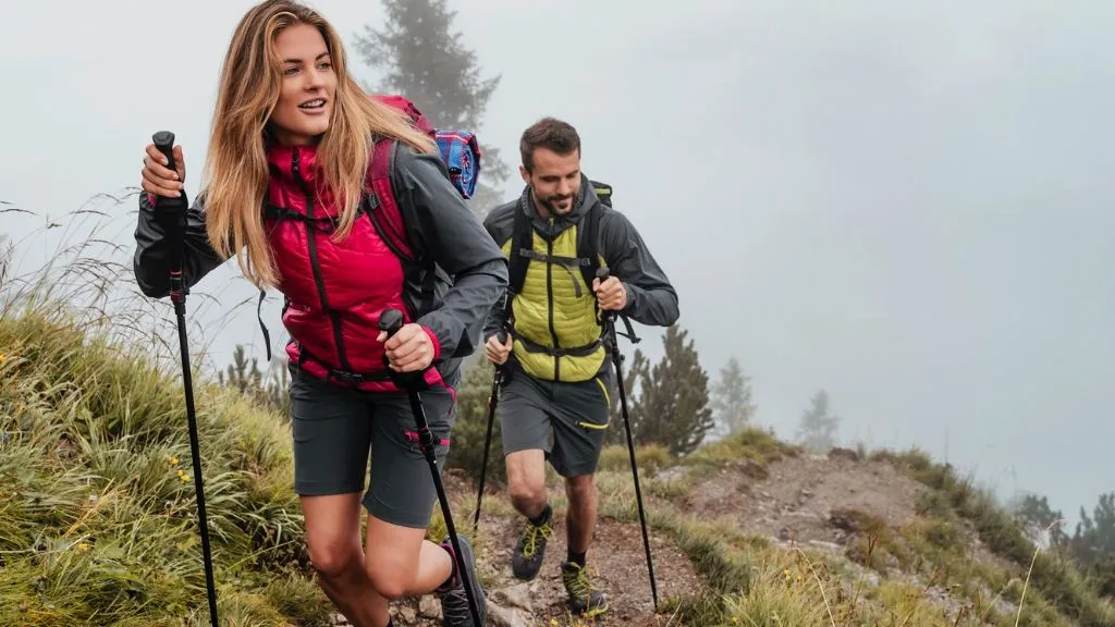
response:
{"label": "black trekking pole gripped in the woman's raised hand, leftmost pole", "polygon": [[[174,133],[159,131],[152,136],[155,147],[166,157],[167,167],[177,171],[174,163]],[[194,411],[194,386],[190,375],[190,348],[186,344],[186,290],[182,279],[182,258],[185,248],[185,208],[181,201],[155,196],[155,211],[168,220],[161,220],[166,228],[171,245],[171,301],[178,321],[178,350],[182,355],[182,385],[186,396],[186,419],[190,423],[190,454],[194,466],[194,494],[197,498],[197,521],[202,536],[202,557],[205,562],[205,590],[209,596],[210,623],[217,627],[216,589],[213,585],[213,557],[210,553],[209,521],[205,514],[205,489],[202,482],[201,445],[197,442],[197,414]]]}

